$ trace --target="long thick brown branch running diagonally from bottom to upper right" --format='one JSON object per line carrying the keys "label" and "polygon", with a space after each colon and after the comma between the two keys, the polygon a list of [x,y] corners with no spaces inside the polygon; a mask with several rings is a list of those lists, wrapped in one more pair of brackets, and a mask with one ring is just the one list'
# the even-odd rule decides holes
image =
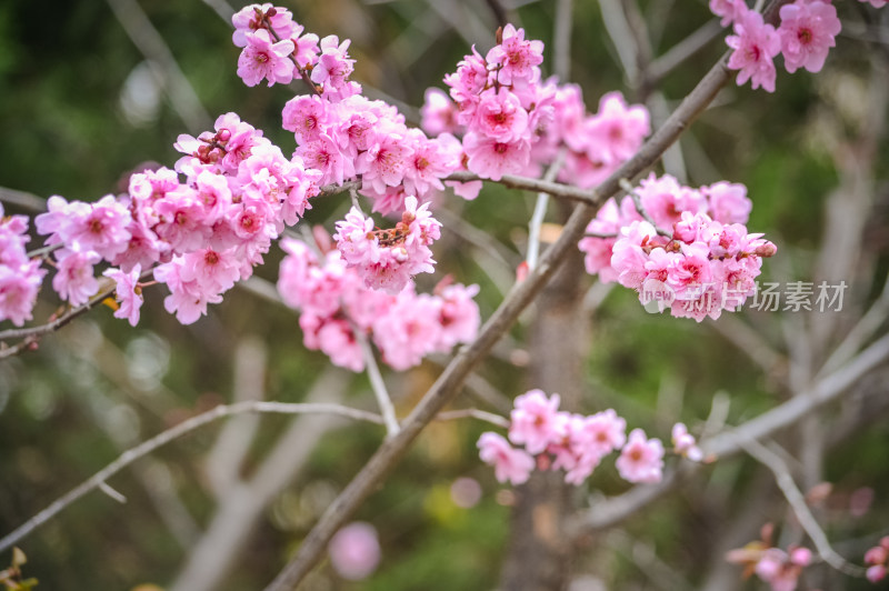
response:
{"label": "long thick brown branch running diagonally from bottom to upper right", "polygon": [[[517,284],[507,296],[493,315],[486,322],[478,338],[469,345],[461,348],[457,357],[446,368],[432,388],[403,421],[401,432],[388,439],[370,458],[368,463],[352,479],[300,545],[297,555],[272,581],[267,591],[293,589],[314,567],[324,552],[333,533],[348,520],[361,503],[377,490],[380,482],[400,461],[420,431],[436,414],[460,391],[463,381],[472,369],[487,355],[493,344],[516,322],[519,314],[536,298],[543,286],[552,277],[566,253],[577,248],[577,241],[590,219],[606,199],[619,190],[619,180],[633,178],[652,166],[663,151],[672,144],[700,112],[713,100],[717,92],[729,81],[730,72],[726,68],[727,56],[703,77],[691,93],[665,124],[640,148],[640,150],[620,169],[606,179],[602,184],[590,192],[578,190],[581,203],[575,209],[566,223],[559,239],[547,250],[539,267],[529,277]],[[533,190],[551,192],[550,188],[536,187]],[[561,191],[561,187],[557,187]]]}

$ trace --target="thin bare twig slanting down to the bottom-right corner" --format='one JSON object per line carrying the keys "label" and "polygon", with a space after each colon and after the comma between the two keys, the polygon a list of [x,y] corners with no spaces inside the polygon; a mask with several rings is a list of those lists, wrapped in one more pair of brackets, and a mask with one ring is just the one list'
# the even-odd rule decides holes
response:
{"label": "thin bare twig slanting down to the bottom-right corner", "polygon": [[797,483],[793,482],[793,477],[790,475],[790,470],[787,468],[781,457],[759,441],[752,439],[741,440],[740,444],[747,453],[771,470],[772,474],[775,474],[775,482],[778,484],[778,488],[781,489],[785,499],[787,499],[788,504],[790,504],[790,508],[793,510],[793,514],[797,515],[797,520],[800,525],[802,525],[802,529],[806,530],[806,533],[809,534],[809,538],[811,538],[816,550],[821,554],[825,562],[845,574],[863,577],[865,569],[862,567],[848,562],[830,545],[825,530],[821,529],[821,525],[818,524],[815,515],[812,515],[812,512],[809,510],[806,498],[802,495],[802,492],[800,492]]}

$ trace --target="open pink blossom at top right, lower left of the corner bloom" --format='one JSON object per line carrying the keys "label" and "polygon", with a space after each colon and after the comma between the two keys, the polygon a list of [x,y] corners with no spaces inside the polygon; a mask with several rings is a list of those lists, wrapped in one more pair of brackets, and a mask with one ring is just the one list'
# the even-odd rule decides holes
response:
{"label": "open pink blossom at top right, lower left of the corner bloom", "polygon": [[772,59],[781,51],[781,38],[775,27],[762,21],[762,14],[748,10],[735,21],[735,33],[726,43],[735,51],[728,67],[738,72],[738,86],[748,80],[753,89],[762,87],[775,92],[775,63]]}

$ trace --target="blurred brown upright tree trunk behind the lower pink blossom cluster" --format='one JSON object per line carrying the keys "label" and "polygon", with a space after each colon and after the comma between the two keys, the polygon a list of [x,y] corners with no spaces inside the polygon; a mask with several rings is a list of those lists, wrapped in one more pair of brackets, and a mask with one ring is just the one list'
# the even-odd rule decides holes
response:
{"label": "blurred brown upright tree trunk behind the lower pink blossom cluster", "polygon": [[[582,254],[575,249],[537,301],[530,355],[531,388],[561,395],[562,409],[577,410],[582,395],[588,319],[583,311]],[[509,553],[500,588],[509,591],[567,589],[572,548],[563,535],[573,487],[565,474],[536,471],[516,489]]]}

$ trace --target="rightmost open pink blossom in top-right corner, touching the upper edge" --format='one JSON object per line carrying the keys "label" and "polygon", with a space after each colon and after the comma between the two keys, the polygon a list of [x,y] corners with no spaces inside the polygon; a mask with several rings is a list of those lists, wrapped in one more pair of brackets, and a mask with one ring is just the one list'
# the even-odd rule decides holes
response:
{"label": "rightmost open pink blossom in top-right corner, touching the upper edge", "polygon": [[819,72],[828,50],[837,44],[840,20],[833,4],[820,0],[797,0],[781,7],[781,53],[790,73],[798,68]]}

